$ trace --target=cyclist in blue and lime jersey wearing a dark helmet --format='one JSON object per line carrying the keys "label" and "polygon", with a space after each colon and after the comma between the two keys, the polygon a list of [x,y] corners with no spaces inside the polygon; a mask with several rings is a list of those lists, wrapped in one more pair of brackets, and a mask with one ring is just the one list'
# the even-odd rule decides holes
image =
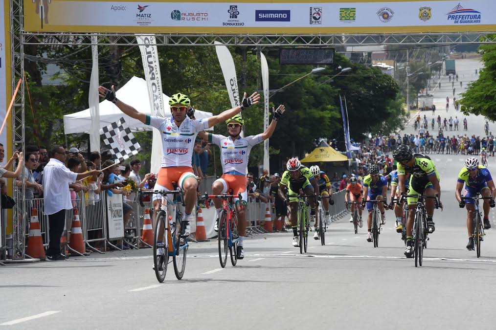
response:
{"label": "cyclist in blue and lime jersey wearing a dark helmet", "polygon": [[[369,175],[364,178],[363,189],[362,209],[365,208],[366,201],[384,200],[384,203],[377,203],[377,207],[381,214],[381,224],[385,224],[384,206],[387,205],[387,179],[385,176],[379,174],[379,166],[371,165],[369,167]],[[367,210],[369,211],[369,217],[367,219],[369,226],[367,234],[368,242],[372,242],[372,208],[373,203],[367,202]]]}

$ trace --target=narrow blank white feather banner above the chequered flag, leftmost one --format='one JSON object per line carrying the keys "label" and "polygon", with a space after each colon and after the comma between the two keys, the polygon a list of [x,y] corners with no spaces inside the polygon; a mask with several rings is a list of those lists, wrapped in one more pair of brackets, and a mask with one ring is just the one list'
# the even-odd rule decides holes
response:
{"label": "narrow blank white feather banner above the chequered flag, leftmost one", "polygon": [[88,104],[91,114],[90,150],[100,152],[100,99],[98,97],[98,46],[96,36],[91,36],[91,55],[93,66],[91,68],[90,92]]}

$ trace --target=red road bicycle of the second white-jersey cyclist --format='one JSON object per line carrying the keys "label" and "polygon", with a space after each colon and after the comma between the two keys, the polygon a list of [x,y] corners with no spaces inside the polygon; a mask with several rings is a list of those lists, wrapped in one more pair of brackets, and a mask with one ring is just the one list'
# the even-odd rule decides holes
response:
{"label": "red road bicycle of the second white-jersey cyclist", "polygon": [[238,242],[240,240],[240,234],[238,231],[238,217],[236,215],[235,205],[233,203],[234,199],[238,199],[242,204],[241,193],[238,195],[233,195],[233,190],[229,189],[228,193],[222,195],[208,195],[205,193],[205,205],[208,206],[208,199],[211,198],[221,198],[222,199],[222,211],[219,216],[217,243],[219,247],[219,261],[222,268],[226,267],[227,263],[227,250],[229,249],[229,255],[231,257],[231,264],[236,266],[238,262]]}

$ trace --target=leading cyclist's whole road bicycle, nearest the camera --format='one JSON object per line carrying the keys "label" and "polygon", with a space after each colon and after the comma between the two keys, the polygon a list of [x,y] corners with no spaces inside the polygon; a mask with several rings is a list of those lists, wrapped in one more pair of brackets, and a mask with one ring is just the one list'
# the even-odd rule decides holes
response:
{"label": "leading cyclist's whole road bicycle, nearest the camera", "polygon": [[[188,250],[187,236],[184,234],[186,224],[182,221],[178,230],[177,220],[183,219],[178,203],[185,206],[183,189],[173,182],[174,190],[142,191],[138,190],[138,201],[144,207],[143,195],[158,194],[162,198],[160,211],[155,215],[153,230],[153,269],[159,282],[163,282],[167,273],[169,257],[172,256],[174,273],[177,279],[182,279],[186,268]],[[172,198],[167,198],[172,195]],[[153,210],[152,210],[153,212]]]}

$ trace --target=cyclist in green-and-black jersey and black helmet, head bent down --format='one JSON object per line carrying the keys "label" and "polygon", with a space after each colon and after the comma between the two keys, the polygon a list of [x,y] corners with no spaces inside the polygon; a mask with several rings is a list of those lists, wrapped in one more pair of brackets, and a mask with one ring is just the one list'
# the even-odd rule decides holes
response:
{"label": "cyclist in green-and-black jersey and black helmet, head bent down", "polygon": [[[409,146],[402,144],[393,152],[393,158],[396,160],[398,167],[398,190],[399,195],[405,192],[405,174],[410,173],[410,186],[408,188],[408,195],[426,195],[435,196],[437,195],[439,199],[439,206],[442,210],[441,198],[441,187],[439,186],[439,174],[433,163],[433,161],[425,155],[413,154]],[[407,258],[413,257],[413,220],[415,218],[415,208],[417,204],[417,198],[408,197],[407,198],[408,209],[408,220],[406,223],[406,233],[407,233],[407,246],[405,249],[405,256]],[[426,200],[426,211],[427,211],[427,226],[429,227],[429,232],[432,233],[435,230],[434,227],[434,200]]]}

